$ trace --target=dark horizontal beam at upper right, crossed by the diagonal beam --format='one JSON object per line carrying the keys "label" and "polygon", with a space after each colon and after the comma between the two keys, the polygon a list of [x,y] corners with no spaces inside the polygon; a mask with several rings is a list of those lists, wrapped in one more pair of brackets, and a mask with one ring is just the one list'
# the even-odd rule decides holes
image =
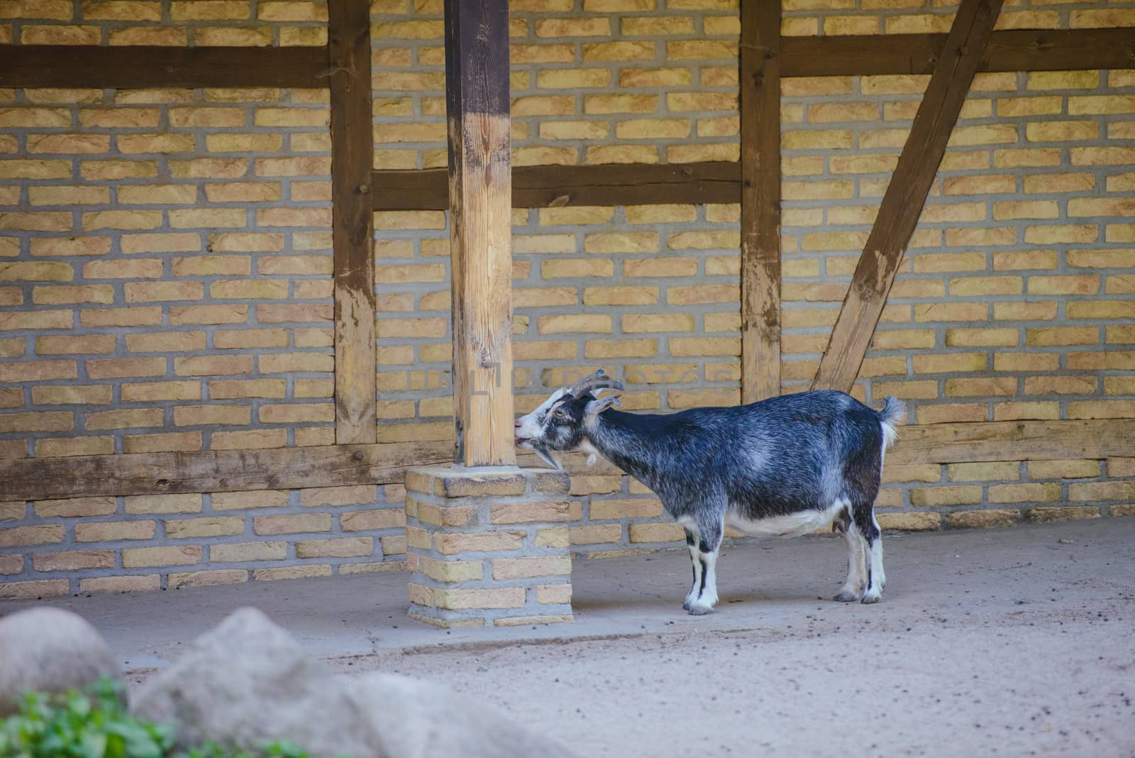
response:
{"label": "dark horizontal beam at upper right, crossed by the diagonal beam", "polygon": [[[945,34],[787,36],[781,76],[930,74]],[[1135,67],[1135,30],[993,32],[978,71],[1057,71]]]}

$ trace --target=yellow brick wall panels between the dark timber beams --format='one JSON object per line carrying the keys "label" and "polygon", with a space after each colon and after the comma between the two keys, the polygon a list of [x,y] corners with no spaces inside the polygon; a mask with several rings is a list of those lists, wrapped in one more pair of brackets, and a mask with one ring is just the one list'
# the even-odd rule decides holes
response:
{"label": "yellow brick wall panels between the dark timber beams", "polygon": [[[511,6],[515,163],[737,159],[735,2]],[[783,27],[944,31],[952,12],[785,0]],[[378,168],[444,165],[440,14],[432,0],[372,3]],[[1135,3],[1016,2],[999,22],[1115,25],[1135,26]],[[25,0],[0,8],[9,41],[322,44],[326,8]],[[787,391],[815,372],[926,81],[783,82]],[[326,99],[0,90],[0,455],[333,441]],[[596,365],[624,379],[632,409],[738,402],[738,218],[737,205],[633,196],[515,210],[518,411]],[[379,439],[446,439],[445,214],[378,213],[376,236]],[[917,423],[1130,418],[1133,343],[1135,70],[978,75],[856,395],[898,395]],[[881,521],[1132,513],[1133,477],[1130,457],[891,465]],[[577,470],[572,488],[580,553],[681,537],[614,470]],[[310,491],[65,504],[0,492],[0,592],[402,565],[401,488],[326,504]]]}

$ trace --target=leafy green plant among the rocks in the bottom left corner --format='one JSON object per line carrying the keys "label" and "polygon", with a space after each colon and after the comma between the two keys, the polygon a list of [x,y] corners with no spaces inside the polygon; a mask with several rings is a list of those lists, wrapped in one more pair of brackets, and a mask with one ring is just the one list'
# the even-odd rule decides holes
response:
{"label": "leafy green plant among the rocks in the bottom left corner", "polygon": [[310,758],[284,740],[257,752],[216,742],[175,752],[173,726],[134,718],[124,701],[109,677],[86,692],[27,692],[19,711],[0,721],[0,758]]}

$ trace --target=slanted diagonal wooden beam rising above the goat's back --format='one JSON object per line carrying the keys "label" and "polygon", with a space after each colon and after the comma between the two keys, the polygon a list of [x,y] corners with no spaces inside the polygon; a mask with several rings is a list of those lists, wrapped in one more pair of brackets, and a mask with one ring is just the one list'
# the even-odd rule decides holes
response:
{"label": "slanted diagonal wooden beam rising above the goat's back", "polygon": [[859,256],[813,389],[848,391],[859,374],[899,262],[922,214],[1000,10],[1001,0],[962,0],[958,8]]}

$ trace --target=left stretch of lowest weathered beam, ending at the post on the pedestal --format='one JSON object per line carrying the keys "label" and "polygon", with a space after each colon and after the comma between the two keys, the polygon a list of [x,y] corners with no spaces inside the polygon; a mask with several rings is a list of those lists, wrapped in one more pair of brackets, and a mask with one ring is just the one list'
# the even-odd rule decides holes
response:
{"label": "left stretch of lowest weathered beam, ending at the post on the pedestal", "polygon": [[401,482],[407,466],[444,463],[449,443],[131,453],[0,461],[0,497],[226,492]]}

